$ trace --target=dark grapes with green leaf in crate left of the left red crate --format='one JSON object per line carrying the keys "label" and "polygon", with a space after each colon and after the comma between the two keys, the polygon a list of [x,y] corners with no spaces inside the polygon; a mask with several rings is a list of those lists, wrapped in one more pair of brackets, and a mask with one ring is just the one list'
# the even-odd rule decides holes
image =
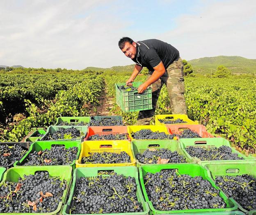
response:
{"label": "dark grapes with green leaf in crate left of the left red crate", "polygon": [[71,138],[77,138],[81,136],[81,132],[74,128],[59,128],[57,132],[54,134],[48,134],[45,138],[45,140],[62,140],[62,139],[71,139]]}

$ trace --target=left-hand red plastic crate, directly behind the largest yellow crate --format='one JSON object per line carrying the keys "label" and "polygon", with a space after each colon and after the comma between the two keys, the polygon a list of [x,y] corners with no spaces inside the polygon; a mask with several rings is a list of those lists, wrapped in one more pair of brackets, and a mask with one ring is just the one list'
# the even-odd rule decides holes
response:
{"label": "left-hand red plastic crate, directly behind the largest yellow crate", "polygon": [[127,134],[127,140],[130,141],[130,137],[128,136],[128,131],[126,126],[91,126],[87,130],[87,135],[85,136],[85,140],[88,140],[90,136],[98,134],[98,135],[106,135],[106,134]]}

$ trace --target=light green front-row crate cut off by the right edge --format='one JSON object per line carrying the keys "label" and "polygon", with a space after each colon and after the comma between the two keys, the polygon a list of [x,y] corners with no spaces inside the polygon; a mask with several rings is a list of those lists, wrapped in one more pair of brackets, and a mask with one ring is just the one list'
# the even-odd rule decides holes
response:
{"label": "light green front-row crate cut off by the right edge", "polygon": [[[224,177],[224,176],[237,176],[242,174],[249,174],[251,177],[256,179],[256,163],[255,164],[207,164],[205,168],[208,172],[208,176],[212,177],[214,180],[216,177]],[[238,202],[236,202],[238,204]],[[243,212],[247,213],[248,210],[242,208],[240,204],[238,204],[238,208]],[[256,210],[255,210],[256,211]]]}

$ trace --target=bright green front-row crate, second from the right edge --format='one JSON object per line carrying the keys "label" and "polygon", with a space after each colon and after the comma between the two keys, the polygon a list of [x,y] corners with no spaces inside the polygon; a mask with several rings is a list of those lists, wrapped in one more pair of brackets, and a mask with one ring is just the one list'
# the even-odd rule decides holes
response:
{"label": "bright green front-row crate, second from the right edge", "polygon": [[232,198],[227,198],[222,190],[219,191],[219,196],[224,200],[226,203],[226,208],[208,208],[208,209],[189,209],[189,210],[157,210],[153,207],[152,202],[149,200],[149,197],[146,193],[146,188],[144,185],[144,176],[147,172],[156,173],[160,172],[161,170],[167,169],[176,169],[180,174],[188,174],[191,177],[201,176],[204,180],[210,181],[211,185],[219,190],[219,188],[215,185],[215,182],[212,178],[210,178],[207,174],[207,171],[204,167],[198,164],[171,164],[171,165],[145,165],[139,167],[139,179],[140,184],[142,186],[142,192],[145,197],[146,202],[149,203],[149,208],[151,210],[150,214],[200,214],[201,212],[211,214],[212,212],[219,212],[219,215],[222,214],[224,211],[232,211],[237,210],[238,206]]}

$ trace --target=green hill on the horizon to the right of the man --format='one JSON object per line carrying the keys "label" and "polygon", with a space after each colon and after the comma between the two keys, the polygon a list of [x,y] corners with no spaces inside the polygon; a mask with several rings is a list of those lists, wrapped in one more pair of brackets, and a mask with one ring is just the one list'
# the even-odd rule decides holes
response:
{"label": "green hill on the horizon to the right of the man", "polygon": [[215,72],[219,65],[226,66],[232,73],[256,72],[256,59],[247,59],[240,56],[203,57],[188,61],[195,73]]}

